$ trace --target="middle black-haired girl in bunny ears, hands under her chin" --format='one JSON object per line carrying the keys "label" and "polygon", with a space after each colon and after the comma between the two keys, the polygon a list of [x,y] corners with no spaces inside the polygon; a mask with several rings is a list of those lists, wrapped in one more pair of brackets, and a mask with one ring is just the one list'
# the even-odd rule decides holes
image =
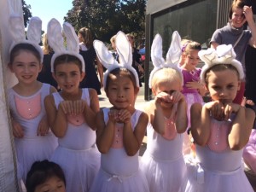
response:
{"label": "middle black-haired girl in bunny ears, hands under her chin", "polygon": [[117,34],[116,46],[120,65],[102,42],[94,42],[97,55],[108,69],[103,84],[113,107],[97,114],[96,144],[102,159],[90,191],[147,192],[148,183],[139,171],[138,151],[148,115],[134,108],[139,82],[131,67],[131,45],[125,33]]}

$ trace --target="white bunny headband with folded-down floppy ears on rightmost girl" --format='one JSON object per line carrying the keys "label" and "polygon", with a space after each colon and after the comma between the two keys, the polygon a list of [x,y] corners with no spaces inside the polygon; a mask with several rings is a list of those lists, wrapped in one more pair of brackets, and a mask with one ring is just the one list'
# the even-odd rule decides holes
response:
{"label": "white bunny headband with folded-down floppy ears on rightmost girl", "polygon": [[201,69],[201,80],[205,83],[206,72],[209,68],[212,68],[218,64],[230,64],[236,67],[240,79],[243,79],[244,73],[241,67],[241,62],[236,60],[236,53],[232,48],[232,45],[221,44],[217,49],[206,49],[198,52],[201,61],[205,62],[205,65]]}

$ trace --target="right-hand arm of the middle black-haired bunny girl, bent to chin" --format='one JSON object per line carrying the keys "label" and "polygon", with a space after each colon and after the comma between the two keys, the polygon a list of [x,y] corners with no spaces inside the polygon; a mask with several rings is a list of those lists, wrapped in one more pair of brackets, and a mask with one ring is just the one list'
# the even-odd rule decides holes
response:
{"label": "right-hand arm of the middle black-haired bunny girl, bent to chin", "polygon": [[146,113],[140,115],[134,131],[131,127],[131,113],[128,110],[120,110],[119,116],[120,119],[124,120],[123,142],[126,154],[133,156],[137,154],[143,143],[143,137],[148,125],[148,115]]}

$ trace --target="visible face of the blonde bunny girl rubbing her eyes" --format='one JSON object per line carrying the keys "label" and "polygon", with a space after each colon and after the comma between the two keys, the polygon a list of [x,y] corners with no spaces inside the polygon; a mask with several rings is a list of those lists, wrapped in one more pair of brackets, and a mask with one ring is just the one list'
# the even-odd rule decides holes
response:
{"label": "visible face of the blonde bunny girl rubbing her eyes", "polygon": [[[157,96],[160,92],[165,92],[171,96],[172,93],[177,90],[182,90],[182,85],[180,79],[176,77],[173,80],[159,80],[155,88],[152,89],[152,92],[154,96]],[[161,102],[160,104],[162,108],[172,108],[173,105],[172,102]]]}

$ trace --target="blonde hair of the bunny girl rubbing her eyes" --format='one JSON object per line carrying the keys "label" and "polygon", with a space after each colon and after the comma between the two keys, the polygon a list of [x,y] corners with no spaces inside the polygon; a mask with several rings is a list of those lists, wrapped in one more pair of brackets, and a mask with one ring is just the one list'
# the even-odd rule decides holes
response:
{"label": "blonde hair of the bunny girl rubbing her eyes", "polygon": [[180,76],[180,73],[178,73],[176,69],[162,68],[156,73],[154,73],[151,82],[151,87],[152,89],[156,90],[160,83],[177,81],[177,79],[180,81],[179,84],[181,84],[182,86],[182,77]]}

